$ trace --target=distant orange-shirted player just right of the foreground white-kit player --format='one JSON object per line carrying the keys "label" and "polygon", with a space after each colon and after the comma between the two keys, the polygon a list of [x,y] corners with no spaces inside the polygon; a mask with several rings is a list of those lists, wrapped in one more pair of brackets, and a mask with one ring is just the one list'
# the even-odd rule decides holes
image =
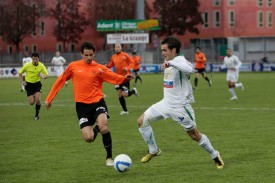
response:
{"label": "distant orange-shirted player just right of the foreground white-kit player", "polygon": [[195,89],[198,88],[198,77],[199,74],[202,75],[202,77],[208,82],[208,85],[212,85],[212,81],[206,76],[205,72],[205,62],[206,62],[206,57],[204,53],[200,50],[200,47],[196,47],[196,54],[195,54]]}

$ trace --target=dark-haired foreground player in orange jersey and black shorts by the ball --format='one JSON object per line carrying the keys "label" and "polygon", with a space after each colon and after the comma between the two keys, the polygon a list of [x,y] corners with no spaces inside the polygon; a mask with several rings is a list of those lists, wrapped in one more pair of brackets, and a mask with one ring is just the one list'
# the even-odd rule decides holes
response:
{"label": "dark-haired foreground player in orange jersey and black shorts by the ball", "polygon": [[102,83],[121,84],[134,77],[131,74],[118,75],[104,65],[96,63],[94,60],[95,47],[90,42],[84,42],[81,45],[81,56],[82,60],[71,62],[55,81],[46,98],[46,108],[51,107],[54,97],[66,81],[72,79],[76,112],[82,136],[86,142],[90,143],[100,132],[107,153],[106,166],[113,166],[112,138],[108,130],[107,118],[109,116],[103,98]]}

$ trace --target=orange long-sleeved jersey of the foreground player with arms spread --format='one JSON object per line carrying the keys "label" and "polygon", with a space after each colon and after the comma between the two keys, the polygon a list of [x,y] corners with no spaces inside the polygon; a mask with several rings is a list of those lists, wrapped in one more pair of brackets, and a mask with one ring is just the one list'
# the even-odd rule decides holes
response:
{"label": "orange long-sleeved jersey of the foreground player with arms spread", "polygon": [[63,74],[55,81],[46,98],[51,103],[65,82],[72,78],[75,102],[85,104],[96,103],[103,98],[102,83],[121,84],[125,77],[112,72],[104,65],[92,61],[87,64],[84,60],[71,62]]}

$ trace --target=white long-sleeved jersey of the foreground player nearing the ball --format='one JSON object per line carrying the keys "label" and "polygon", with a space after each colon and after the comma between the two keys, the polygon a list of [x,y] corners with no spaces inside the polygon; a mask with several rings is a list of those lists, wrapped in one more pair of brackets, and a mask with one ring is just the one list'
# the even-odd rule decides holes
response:
{"label": "white long-sleeved jersey of the foreground player nearing the ball", "polygon": [[164,70],[164,98],[170,107],[185,106],[193,103],[194,96],[190,83],[193,65],[184,56],[167,61],[169,67]]}

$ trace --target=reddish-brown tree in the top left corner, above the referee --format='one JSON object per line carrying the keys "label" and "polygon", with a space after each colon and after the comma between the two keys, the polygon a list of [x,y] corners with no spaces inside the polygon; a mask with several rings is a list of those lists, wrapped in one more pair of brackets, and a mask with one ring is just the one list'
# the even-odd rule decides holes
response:
{"label": "reddish-brown tree in the top left corner, above the referee", "polygon": [[36,28],[39,14],[35,4],[31,4],[28,0],[0,1],[0,16],[0,32],[3,40],[15,44],[16,51],[19,52],[20,42],[26,36],[30,36]]}

